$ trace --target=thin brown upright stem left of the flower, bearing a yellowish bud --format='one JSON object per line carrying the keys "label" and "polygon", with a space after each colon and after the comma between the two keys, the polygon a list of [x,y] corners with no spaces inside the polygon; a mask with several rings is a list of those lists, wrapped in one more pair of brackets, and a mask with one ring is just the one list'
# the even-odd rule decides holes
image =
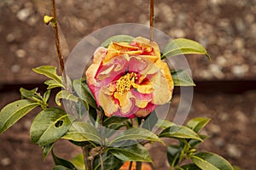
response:
{"label": "thin brown upright stem left of the flower, bearing a yellowish bud", "polygon": [[58,59],[59,59],[59,65],[60,65],[60,71],[61,75],[63,77],[63,83],[67,87],[67,77],[66,77],[66,72],[65,72],[65,67],[64,67],[64,59],[61,54],[61,43],[60,43],[60,37],[59,37],[59,31],[58,31],[58,23],[57,23],[57,14],[56,14],[56,8],[55,8],[55,0],[52,0],[52,9],[51,9],[52,16],[55,19],[55,24],[53,25],[53,29],[55,32],[55,48],[58,54]]}

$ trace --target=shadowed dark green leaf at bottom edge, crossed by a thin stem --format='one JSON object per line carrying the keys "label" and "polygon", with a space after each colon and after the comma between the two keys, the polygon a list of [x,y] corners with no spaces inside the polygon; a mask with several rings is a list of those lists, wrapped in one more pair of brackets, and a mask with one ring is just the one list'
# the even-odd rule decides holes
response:
{"label": "shadowed dark green leaf at bottom edge, crossed by a thin stem", "polygon": [[[102,161],[104,169],[116,170],[122,166],[123,161],[119,160],[117,157],[110,155],[108,153],[102,154]],[[93,160],[94,170],[101,170],[101,159],[100,156],[96,156]]]}

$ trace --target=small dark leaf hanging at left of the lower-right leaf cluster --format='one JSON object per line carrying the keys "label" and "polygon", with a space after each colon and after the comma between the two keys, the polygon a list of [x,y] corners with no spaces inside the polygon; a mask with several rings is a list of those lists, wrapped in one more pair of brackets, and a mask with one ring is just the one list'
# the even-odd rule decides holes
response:
{"label": "small dark leaf hanging at left of the lower-right leaf cluster", "polygon": [[167,147],[167,159],[171,167],[175,167],[183,148],[180,145],[169,145]]}

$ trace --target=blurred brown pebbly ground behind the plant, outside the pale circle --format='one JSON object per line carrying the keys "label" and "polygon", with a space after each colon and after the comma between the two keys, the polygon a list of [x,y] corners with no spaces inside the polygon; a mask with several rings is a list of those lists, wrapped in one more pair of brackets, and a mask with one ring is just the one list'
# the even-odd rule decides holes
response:
{"label": "blurred brown pebbly ground behind the plant, outside the pale circle", "polygon": [[[148,25],[146,0],[56,0],[61,48],[69,52],[86,35],[118,23]],[[39,65],[58,66],[54,35],[44,26],[50,1],[0,1],[0,108],[20,99],[19,88],[36,88],[45,78],[32,72]],[[189,117],[208,116],[204,133],[211,136],[201,150],[224,156],[242,169],[256,169],[256,0],[155,0],[155,25],[172,38],[185,37],[207,48],[206,57],[188,57],[197,82]],[[179,101],[172,100],[175,111]],[[30,143],[29,114],[0,135],[0,169],[51,169],[50,158]],[[59,144],[73,156],[79,150]],[[165,148],[153,145],[157,169],[167,169]]]}

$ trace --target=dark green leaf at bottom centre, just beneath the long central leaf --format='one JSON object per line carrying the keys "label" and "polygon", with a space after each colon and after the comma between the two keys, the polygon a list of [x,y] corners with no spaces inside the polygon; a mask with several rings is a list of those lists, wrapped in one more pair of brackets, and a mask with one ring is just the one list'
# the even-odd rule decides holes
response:
{"label": "dark green leaf at bottom centre, just beneath the long central leaf", "polygon": [[152,162],[148,150],[142,144],[133,144],[126,147],[109,148],[108,151],[122,161]]}

